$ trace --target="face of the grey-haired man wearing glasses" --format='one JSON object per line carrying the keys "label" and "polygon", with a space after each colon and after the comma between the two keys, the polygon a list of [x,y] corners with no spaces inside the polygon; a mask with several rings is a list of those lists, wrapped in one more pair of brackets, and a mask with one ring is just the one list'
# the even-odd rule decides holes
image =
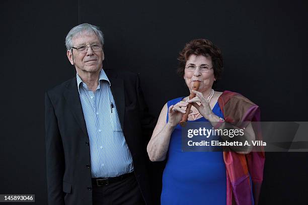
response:
{"label": "face of the grey-haired man wearing glasses", "polygon": [[[83,32],[72,38],[72,44],[73,47],[79,48],[81,46],[101,45],[101,42],[94,33]],[[93,51],[89,47],[88,51],[83,53],[73,48],[72,50],[68,50],[66,54],[70,63],[75,65],[78,74],[96,73],[103,67],[103,49]]]}

